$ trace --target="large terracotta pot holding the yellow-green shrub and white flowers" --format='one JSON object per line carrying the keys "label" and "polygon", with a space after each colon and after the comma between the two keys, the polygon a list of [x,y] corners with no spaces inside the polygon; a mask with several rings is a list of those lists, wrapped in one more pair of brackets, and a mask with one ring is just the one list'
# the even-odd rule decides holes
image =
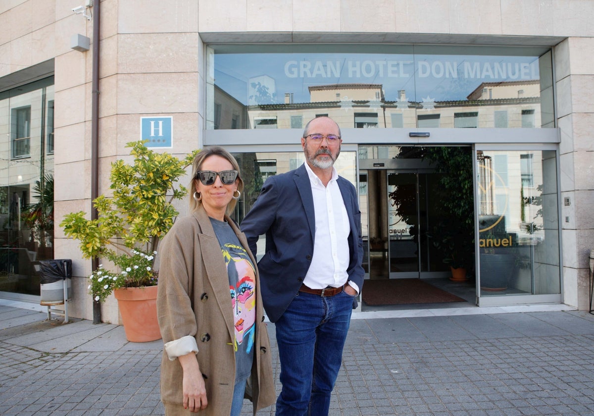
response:
{"label": "large terracotta pot holding the yellow-green shrub and white flowers", "polygon": [[126,339],[131,342],[149,342],[161,338],[157,322],[157,286],[120,288],[113,291]]}

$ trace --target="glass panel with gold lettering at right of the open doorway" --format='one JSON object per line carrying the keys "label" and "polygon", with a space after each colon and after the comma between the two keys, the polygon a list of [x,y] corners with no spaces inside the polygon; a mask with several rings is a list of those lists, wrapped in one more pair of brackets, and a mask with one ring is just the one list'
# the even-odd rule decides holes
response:
{"label": "glass panel with gold lettering at right of the open doorway", "polygon": [[481,296],[559,294],[555,152],[479,150],[477,158]]}

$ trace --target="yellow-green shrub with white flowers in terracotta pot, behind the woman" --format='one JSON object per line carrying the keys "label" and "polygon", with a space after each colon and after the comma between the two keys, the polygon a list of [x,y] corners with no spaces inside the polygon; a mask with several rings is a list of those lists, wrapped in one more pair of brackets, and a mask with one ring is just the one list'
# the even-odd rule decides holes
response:
{"label": "yellow-green shrub with white flowers in terracotta pot, behind the woman", "polygon": [[172,201],[187,194],[178,179],[199,152],[178,159],[153,152],[144,143],[127,144],[134,156],[131,164],[122,159],[112,163],[112,196],[100,195],[93,201],[96,219],[86,219],[87,213],[80,211],[69,213],[60,223],[67,237],[80,241],[83,257],[110,262],[91,273],[89,292],[99,302],[113,292],[126,338],[132,342],[161,338],[154,260],[160,239],[178,215]]}

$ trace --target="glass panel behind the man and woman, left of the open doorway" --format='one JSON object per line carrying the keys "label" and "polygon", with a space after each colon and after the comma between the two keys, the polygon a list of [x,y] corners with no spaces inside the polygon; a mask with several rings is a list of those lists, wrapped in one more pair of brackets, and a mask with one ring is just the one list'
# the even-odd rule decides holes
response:
{"label": "glass panel behind the man and woman, left of the open doorway", "polygon": [[[244,192],[237,201],[232,218],[238,223],[244,219],[245,214],[254,206],[260,195],[260,190],[266,178],[292,171],[305,162],[303,152],[249,152],[233,153],[239,163],[239,172],[244,179]],[[340,176],[346,178],[353,185],[357,184],[356,152],[340,152],[334,163],[334,168]],[[264,254],[266,236],[258,239],[258,256]],[[258,257],[260,259],[260,257]]]}

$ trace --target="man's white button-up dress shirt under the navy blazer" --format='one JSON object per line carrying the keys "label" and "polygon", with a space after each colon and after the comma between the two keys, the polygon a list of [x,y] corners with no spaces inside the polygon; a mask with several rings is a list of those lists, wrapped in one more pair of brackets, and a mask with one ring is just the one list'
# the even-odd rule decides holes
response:
{"label": "man's white button-up dress shirt under the navy blazer", "polygon": [[[314,197],[315,238],[314,255],[304,285],[311,289],[338,288],[345,285],[349,278],[347,269],[350,260],[349,217],[338,186],[338,174],[332,168],[332,178],[324,187],[307,163],[305,169]],[[349,285],[359,292],[355,283],[349,282]]]}

